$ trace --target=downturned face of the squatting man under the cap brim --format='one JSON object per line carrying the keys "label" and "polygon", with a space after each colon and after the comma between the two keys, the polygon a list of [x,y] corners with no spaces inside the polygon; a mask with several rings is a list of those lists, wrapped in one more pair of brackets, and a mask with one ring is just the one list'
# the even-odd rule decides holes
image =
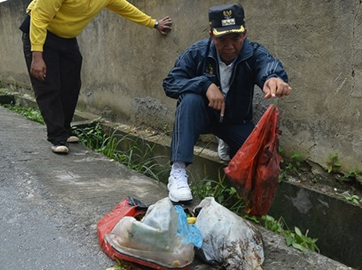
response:
{"label": "downturned face of the squatting man under the cap brim", "polygon": [[244,33],[226,34],[218,38],[210,33],[210,37],[221,60],[228,65],[239,55],[246,38],[246,31]]}

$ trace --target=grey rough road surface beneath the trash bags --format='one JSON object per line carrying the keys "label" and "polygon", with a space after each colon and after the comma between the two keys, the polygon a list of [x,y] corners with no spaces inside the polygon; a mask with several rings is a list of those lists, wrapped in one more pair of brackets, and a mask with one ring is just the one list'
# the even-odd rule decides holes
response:
{"label": "grey rough road surface beneath the trash bags", "polygon": [[[55,155],[45,128],[0,107],[0,269],[99,269],[113,262],[100,250],[96,222],[126,196],[151,204],[166,187],[82,145]],[[264,269],[349,269],[301,253],[260,228]],[[192,269],[211,269],[197,260]]]}

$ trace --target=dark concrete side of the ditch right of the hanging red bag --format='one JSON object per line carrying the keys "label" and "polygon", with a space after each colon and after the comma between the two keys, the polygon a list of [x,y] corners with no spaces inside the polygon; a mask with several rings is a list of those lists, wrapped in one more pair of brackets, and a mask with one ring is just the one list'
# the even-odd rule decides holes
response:
{"label": "dark concrete side of the ditch right of the hanging red bag", "polygon": [[282,217],[289,228],[308,230],[325,256],[358,269],[362,266],[362,209],[323,189],[291,180],[281,183],[269,215]]}

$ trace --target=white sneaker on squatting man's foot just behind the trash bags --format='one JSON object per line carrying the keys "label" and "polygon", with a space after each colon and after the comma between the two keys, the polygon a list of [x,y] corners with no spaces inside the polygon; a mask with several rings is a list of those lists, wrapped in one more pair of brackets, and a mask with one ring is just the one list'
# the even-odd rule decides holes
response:
{"label": "white sneaker on squatting man's foot just behind the trash bags", "polygon": [[185,169],[178,169],[168,178],[168,197],[173,202],[191,201],[192,194],[187,184],[187,174]]}

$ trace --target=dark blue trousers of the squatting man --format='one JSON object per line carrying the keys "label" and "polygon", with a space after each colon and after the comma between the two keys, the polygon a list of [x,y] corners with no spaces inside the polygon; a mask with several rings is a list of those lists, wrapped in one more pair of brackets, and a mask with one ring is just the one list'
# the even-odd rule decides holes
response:
{"label": "dark blue trousers of the squatting man", "polygon": [[230,146],[232,158],[254,129],[251,121],[219,123],[220,111],[208,106],[206,97],[187,93],[179,97],[171,142],[171,163],[191,164],[200,134],[214,134]]}

